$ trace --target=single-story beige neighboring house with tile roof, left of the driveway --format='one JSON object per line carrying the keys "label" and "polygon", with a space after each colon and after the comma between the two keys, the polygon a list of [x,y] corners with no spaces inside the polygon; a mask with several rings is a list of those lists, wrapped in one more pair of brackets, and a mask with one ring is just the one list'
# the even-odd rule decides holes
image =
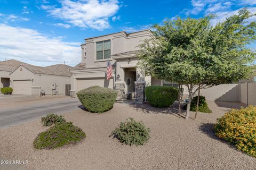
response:
{"label": "single-story beige neighboring house with tile roof, left of the driveway", "polygon": [[[15,64],[18,66],[14,66]],[[9,69],[7,74],[3,74],[4,72],[1,71],[0,77],[4,78],[9,75],[9,77],[7,77],[9,83],[7,83],[7,80],[3,81],[4,84],[6,83],[4,87],[12,87],[13,94],[39,95],[42,90],[46,95],[69,94],[70,69],[73,68],[71,66],[57,64],[41,67],[16,60],[9,60],[0,62],[0,68],[1,67]],[[68,93],[66,93],[67,91]]]}

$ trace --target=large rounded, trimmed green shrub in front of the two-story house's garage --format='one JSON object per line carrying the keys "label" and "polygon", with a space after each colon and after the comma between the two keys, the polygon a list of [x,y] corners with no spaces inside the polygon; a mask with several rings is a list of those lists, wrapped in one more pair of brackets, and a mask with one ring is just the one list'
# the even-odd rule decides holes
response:
{"label": "large rounded, trimmed green shrub in front of the two-story house's garage", "polygon": [[92,86],[77,92],[77,97],[89,112],[109,111],[117,97],[117,91],[99,86]]}

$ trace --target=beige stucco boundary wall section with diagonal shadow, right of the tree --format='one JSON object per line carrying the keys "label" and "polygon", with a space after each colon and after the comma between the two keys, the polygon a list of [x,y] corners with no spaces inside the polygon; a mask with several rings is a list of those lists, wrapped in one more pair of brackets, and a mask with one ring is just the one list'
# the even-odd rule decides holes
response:
{"label": "beige stucco boundary wall section with diagonal shadow, right of the tree", "polygon": [[220,84],[201,89],[201,95],[212,101],[240,101],[240,88],[239,84]]}

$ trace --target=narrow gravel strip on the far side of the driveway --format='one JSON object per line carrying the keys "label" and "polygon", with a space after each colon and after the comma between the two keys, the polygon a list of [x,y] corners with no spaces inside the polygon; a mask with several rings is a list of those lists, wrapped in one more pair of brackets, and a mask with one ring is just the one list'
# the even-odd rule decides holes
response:
{"label": "narrow gravel strip on the far side of the driveway", "polygon": [[51,102],[70,98],[64,95],[46,95],[43,97],[27,96],[27,95],[0,95],[0,108],[19,107],[33,105],[43,102]]}

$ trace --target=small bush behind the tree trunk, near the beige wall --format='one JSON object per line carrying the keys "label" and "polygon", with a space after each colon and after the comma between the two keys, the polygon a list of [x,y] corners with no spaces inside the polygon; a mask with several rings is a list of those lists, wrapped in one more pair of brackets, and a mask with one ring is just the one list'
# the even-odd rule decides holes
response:
{"label": "small bush behind the tree trunk, near the beige wall", "polygon": [[[197,96],[193,97],[193,99],[191,101],[190,111],[196,112],[196,104],[197,104]],[[183,108],[187,109],[187,104]],[[198,111],[203,112],[203,113],[212,113],[212,111],[209,109],[209,107],[206,103],[204,96],[199,97]]]}

